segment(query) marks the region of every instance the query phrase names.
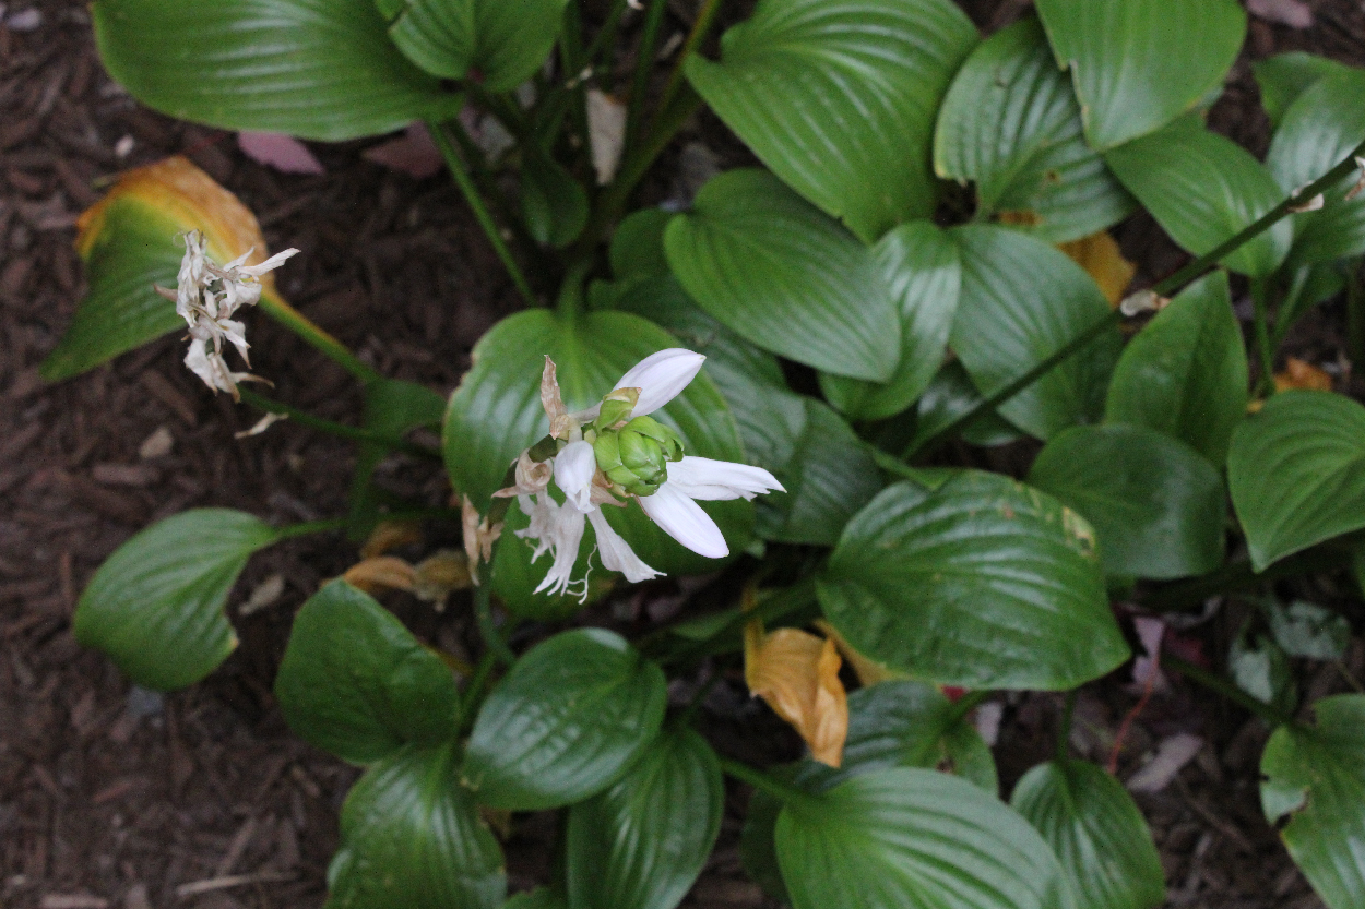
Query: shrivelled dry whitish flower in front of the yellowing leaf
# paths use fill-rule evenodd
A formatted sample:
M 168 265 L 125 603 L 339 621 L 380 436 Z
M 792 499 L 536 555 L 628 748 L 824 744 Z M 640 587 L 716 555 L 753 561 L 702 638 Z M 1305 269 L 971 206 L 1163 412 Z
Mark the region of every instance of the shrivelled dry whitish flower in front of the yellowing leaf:
M 184 235 L 184 258 L 176 276 L 176 289 L 157 288 L 164 298 L 175 300 L 176 314 L 190 328 L 190 351 L 184 364 L 205 385 L 229 393 L 233 400 L 238 400 L 238 382 L 257 377 L 233 373 L 222 359 L 222 343 L 227 341 L 251 366 L 246 326 L 233 321 L 232 315 L 242 306 L 255 306 L 261 299 L 261 276 L 284 265 L 298 250 L 277 252 L 259 265 L 243 265 L 251 252 L 247 250 L 244 255 L 218 266 L 205 254 L 203 233 L 190 231 Z

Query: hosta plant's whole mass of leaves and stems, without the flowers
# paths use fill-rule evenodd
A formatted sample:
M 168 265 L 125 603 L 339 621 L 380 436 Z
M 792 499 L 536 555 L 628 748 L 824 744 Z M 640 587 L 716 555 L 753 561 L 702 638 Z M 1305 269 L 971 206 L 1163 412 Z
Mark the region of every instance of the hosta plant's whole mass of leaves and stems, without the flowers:
M 556 308 L 532 306 L 479 341 L 448 403 L 374 374 L 268 291 L 266 314 L 366 389 L 360 427 L 314 420 L 362 445 L 341 524 L 363 534 L 401 506 L 369 472 L 385 450 L 411 450 L 403 434 L 423 424 L 441 427 L 452 486 L 487 513 L 509 461 L 545 433 L 546 355 L 579 409 L 681 343 L 707 370 L 657 416 L 689 453 L 763 465 L 786 489 L 758 505 L 707 504 L 732 562 L 762 554 L 766 577 L 790 584 L 759 614 L 770 625 L 820 616 L 867 665 L 906 677 L 849 697 L 838 770 L 718 758 L 689 712 L 666 715 L 665 669 L 733 654 L 747 614 L 689 616 L 639 646 L 561 631 L 512 654 L 493 596 L 511 622 L 579 609 L 534 592 L 543 569 L 515 536 L 527 516 L 513 508 L 475 596 L 487 655 L 461 667 L 463 687 L 345 581 L 295 621 L 276 685 L 285 717 L 367 767 L 343 812 L 329 905 L 667 909 L 714 843 L 722 767 L 756 786 L 747 867 L 799 909 L 1162 901 L 1151 837 L 1111 775 L 1059 755 L 1006 804 L 966 721 L 972 702 L 954 706 L 936 685 L 1074 689 L 1129 656 L 1112 595 L 1160 591 L 1168 603 L 1181 583 L 1207 595 L 1291 571 L 1306 550 L 1350 558 L 1365 528 L 1365 408 L 1328 392 L 1272 394 L 1269 375 L 1289 329 L 1365 254 L 1365 199 L 1353 198 L 1365 72 L 1306 55 L 1260 63 L 1275 123 L 1261 162 L 1201 116 L 1244 40 L 1235 0 L 1036 7 L 983 38 L 949 0 L 760 0 L 708 60 L 696 53 L 708 1 L 651 112 L 666 15 L 654 0 L 624 154 L 603 168 L 591 93 L 618 87 L 609 61 L 624 1 L 584 46 L 566 0 L 96 0 L 109 71 L 175 116 L 314 139 L 426 120 L 528 302 L 558 284 Z M 513 94 L 523 83 L 532 90 Z M 467 102 L 504 121 L 512 152 L 489 160 L 463 132 Z M 764 167 L 715 176 L 681 213 L 622 217 L 703 102 Z M 479 197 L 498 198 L 502 168 L 519 177 L 502 207 L 530 280 Z M 91 289 L 49 378 L 175 328 L 150 285 L 175 281 L 176 231 L 205 229 L 220 261 L 259 242 L 244 209 L 172 171 L 131 175 L 83 220 Z M 1179 293 L 1125 343 L 1122 315 L 1055 244 L 1138 209 L 1198 258 L 1153 288 Z M 1233 281 L 1256 310 L 1254 394 Z M 793 390 L 782 360 L 819 397 Z M 1024 437 L 1041 450 L 1022 479 L 930 457 L 949 438 Z M 717 569 L 639 509 L 609 510 L 650 565 Z M 227 509 L 172 517 L 100 569 L 76 633 L 141 684 L 190 684 L 235 643 L 222 607 L 250 554 L 332 527 L 276 530 Z M 1246 561 L 1228 561 L 1230 539 Z M 590 530 L 576 576 L 592 551 Z M 1304 625 L 1275 610 L 1272 626 Z M 1324 901 L 1357 906 L 1365 696 L 1319 702 L 1312 726 L 1290 718 L 1295 706 L 1257 707 L 1278 726 L 1265 813 L 1287 818 L 1282 837 Z M 551 808 L 565 809 L 553 887 L 504 902 L 485 818 Z

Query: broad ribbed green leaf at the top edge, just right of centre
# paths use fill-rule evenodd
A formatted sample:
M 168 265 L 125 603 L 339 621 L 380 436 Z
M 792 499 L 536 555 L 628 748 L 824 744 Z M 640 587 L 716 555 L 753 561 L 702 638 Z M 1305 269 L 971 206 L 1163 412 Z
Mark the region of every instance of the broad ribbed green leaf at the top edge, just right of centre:
M 939 100 L 976 44 L 947 0 L 762 0 L 685 72 L 782 180 L 871 243 L 934 213 Z

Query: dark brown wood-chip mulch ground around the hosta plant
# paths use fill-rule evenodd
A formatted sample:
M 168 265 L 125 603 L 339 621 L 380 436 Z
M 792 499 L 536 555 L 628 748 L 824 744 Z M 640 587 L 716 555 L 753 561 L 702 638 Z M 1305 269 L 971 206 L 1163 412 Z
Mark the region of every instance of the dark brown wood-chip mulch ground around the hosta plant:
M 981 25 L 1025 5 L 965 4 Z M 1253 20 L 1253 57 L 1312 49 L 1365 63 L 1365 12 L 1354 0 L 1310 3 L 1317 25 L 1290 30 Z M 11 3 L 10 12 L 29 8 Z M 213 397 L 165 338 L 81 378 L 45 386 L 37 364 L 68 323 L 82 292 L 71 248 L 76 214 L 120 169 L 188 154 L 259 216 L 272 248 L 303 254 L 280 273 L 283 293 L 382 373 L 446 393 L 468 351 L 515 292 L 457 194 L 441 177 L 416 182 L 364 162 L 366 143 L 314 146 L 321 177 L 285 176 L 246 160 L 231 135 L 152 113 L 100 67 L 81 3 L 33 4 L 30 31 L 0 26 L 0 906 L 197 909 L 319 906 L 336 846 L 336 813 L 356 771 L 293 738 L 270 696 L 293 610 L 355 550 L 336 538 L 300 539 L 253 560 L 232 598 L 242 647 L 206 682 L 164 699 L 130 689 L 70 632 L 75 599 L 98 564 L 153 520 L 201 505 L 228 505 L 272 521 L 343 513 L 348 445 L 288 423 L 235 439 L 255 415 Z M 22 22 L 22 20 L 20 20 Z M 674 19 L 674 25 L 677 25 Z M 1215 124 L 1263 150 L 1265 123 L 1246 60 Z M 702 138 L 726 165 L 733 145 L 703 121 Z M 115 149 L 128 142 L 120 157 Z M 669 167 L 667 158 L 665 168 Z M 1148 272 L 1178 263 L 1151 225 L 1119 231 Z M 1297 341 L 1313 362 L 1340 354 L 1331 307 Z M 358 396 L 348 378 L 291 336 L 255 321 L 255 371 L 281 400 L 348 420 Z M 141 457 L 156 433 L 169 453 Z M 440 468 L 393 461 L 384 482 L 440 504 Z M 238 605 L 273 575 L 284 594 L 250 617 Z M 1339 599 L 1332 579 L 1320 595 Z M 414 602 L 400 614 L 422 635 L 459 647 L 465 616 Z M 1226 641 L 1235 610 L 1203 631 Z M 1358 620 L 1358 611 L 1355 618 Z M 1360 676 L 1360 640 L 1349 661 Z M 1103 760 L 1134 696 L 1118 674 L 1087 687 L 1078 752 Z M 1331 667 L 1306 673 L 1314 695 L 1340 688 Z M 781 753 L 790 738 L 752 707 L 743 688 L 708 702 L 713 738 L 729 753 Z M 1047 758 L 1057 700 L 1026 696 L 1005 711 L 995 749 L 1006 785 Z M 773 729 L 771 748 L 752 729 Z M 743 730 L 751 730 L 741 736 Z M 1162 849 L 1171 906 L 1310 909 L 1319 906 L 1261 818 L 1257 721 L 1177 681 L 1130 729 L 1121 775 L 1174 733 L 1204 740 L 1163 792 L 1141 796 Z M 734 841 L 743 792 L 733 792 L 721 848 L 689 905 L 759 906 L 738 868 Z M 515 887 L 543 874 L 553 824 L 523 822 L 508 842 Z M 834 908 L 831 908 L 834 909 Z

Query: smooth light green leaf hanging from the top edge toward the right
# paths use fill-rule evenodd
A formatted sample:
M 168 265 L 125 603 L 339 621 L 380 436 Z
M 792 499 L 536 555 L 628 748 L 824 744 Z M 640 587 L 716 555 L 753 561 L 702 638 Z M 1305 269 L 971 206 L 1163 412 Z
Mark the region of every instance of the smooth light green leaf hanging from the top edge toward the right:
M 1100 152 L 1193 108 L 1223 82 L 1246 34 L 1237 0 L 1037 0 L 1037 11 Z

